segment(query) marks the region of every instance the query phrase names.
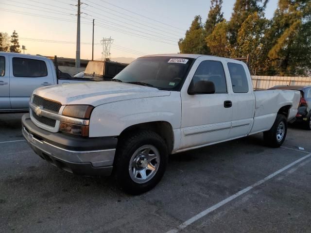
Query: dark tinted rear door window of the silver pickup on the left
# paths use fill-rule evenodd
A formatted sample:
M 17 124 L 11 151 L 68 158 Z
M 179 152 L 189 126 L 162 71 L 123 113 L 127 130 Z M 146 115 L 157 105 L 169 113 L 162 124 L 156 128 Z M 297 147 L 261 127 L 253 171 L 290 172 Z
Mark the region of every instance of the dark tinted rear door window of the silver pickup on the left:
M 14 57 L 13 74 L 15 77 L 45 77 L 48 71 L 44 61 Z

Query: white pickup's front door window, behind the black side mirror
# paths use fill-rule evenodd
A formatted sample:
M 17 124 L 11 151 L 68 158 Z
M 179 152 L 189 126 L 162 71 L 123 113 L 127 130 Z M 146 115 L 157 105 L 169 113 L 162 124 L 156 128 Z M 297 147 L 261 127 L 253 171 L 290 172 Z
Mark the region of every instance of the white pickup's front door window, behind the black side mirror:
M 215 85 L 215 93 L 226 93 L 225 71 L 223 64 L 217 61 L 203 61 L 195 71 L 192 82 L 210 81 Z

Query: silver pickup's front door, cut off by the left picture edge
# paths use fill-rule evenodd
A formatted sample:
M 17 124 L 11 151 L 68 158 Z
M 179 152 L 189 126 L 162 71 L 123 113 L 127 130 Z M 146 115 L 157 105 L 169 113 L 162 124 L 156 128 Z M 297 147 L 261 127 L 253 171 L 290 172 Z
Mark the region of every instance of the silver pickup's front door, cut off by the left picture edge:
M 0 111 L 10 109 L 9 61 L 7 55 L 0 55 Z

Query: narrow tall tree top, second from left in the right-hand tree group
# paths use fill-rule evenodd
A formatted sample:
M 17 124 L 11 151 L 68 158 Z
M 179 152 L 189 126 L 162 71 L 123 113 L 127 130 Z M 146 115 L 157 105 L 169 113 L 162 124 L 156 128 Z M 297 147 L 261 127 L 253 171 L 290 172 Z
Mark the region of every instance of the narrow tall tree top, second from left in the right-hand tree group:
M 210 9 L 205 23 L 206 36 L 210 35 L 216 24 L 224 20 L 224 13 L 222 12 L 223 0 L 210 0 Z

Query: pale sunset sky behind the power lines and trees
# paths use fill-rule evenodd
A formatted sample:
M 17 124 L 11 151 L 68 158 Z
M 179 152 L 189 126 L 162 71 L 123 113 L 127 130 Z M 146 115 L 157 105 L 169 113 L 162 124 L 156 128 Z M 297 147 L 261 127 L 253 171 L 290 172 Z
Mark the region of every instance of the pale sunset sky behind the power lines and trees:
M 16 30 L 25 53 L 75 57 L 77 0 L 0 0 L 0 32 Z M 103 37 L 114 39 L 112 57 L 177 53 L 194 16 L 205 22 L 209 0 L 81 0 L 81 58 L 92 56 L 92 19 L 95 18 L 94 59 L 101 58 Z M 234 0 L 224 0 L 230 19 Z M 270 0 L 266 17 L 273 17 L 277 0 Z M 52 43 L 54 42 L 54 43 Z

